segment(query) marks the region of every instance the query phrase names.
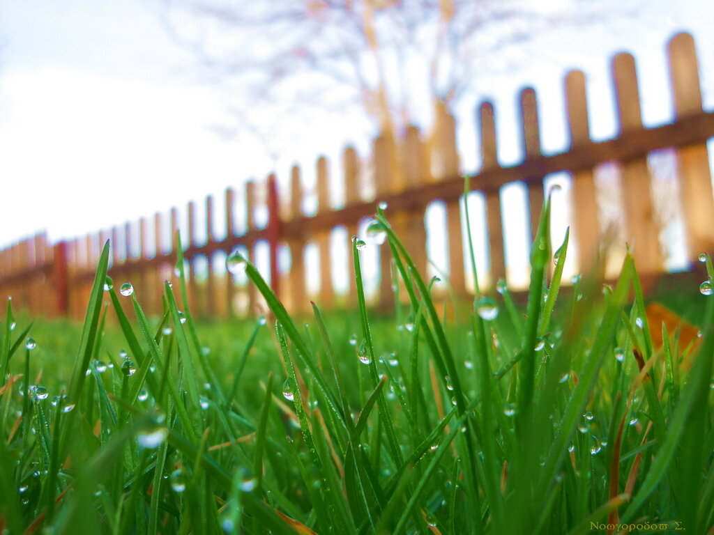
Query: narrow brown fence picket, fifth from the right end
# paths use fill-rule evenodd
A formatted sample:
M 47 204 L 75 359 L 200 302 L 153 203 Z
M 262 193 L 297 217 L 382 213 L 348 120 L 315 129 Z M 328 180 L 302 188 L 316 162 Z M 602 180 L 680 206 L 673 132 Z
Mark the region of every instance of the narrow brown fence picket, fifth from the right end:
M 496 154 L 496 121 L 493 105 L 484 102 L 479 108 L 481 119 L 481 156 L 483 170 L 498 168 Z M 488 227 L 488 258 L 491 282 L 506 279 L 506 255 L 503 252 L 503 220 L 501 218 L 501 192 L 486 190 L 486 226 Z

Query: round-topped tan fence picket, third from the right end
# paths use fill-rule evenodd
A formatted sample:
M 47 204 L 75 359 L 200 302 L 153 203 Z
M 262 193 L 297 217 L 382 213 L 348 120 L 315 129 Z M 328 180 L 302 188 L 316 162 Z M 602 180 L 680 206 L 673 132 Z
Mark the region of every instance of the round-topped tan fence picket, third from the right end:
M 585 74 L 570 71 L 565 77 L 565 105 L 568 108 L 570 147 L 590 143 Z M 585 271 L 595 263 L 600 247 L 598 192 L 592 169 L 573 173 L 573 230 L 578 245 L 578 269 Z

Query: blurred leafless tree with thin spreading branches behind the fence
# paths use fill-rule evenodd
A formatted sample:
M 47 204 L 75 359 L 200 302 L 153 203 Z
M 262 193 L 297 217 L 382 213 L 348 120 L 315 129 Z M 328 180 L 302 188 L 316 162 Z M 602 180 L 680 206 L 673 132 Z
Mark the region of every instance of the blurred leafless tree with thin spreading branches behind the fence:
M 286 113 L 357 107 L 398 133 L 434 102 L 477 91 L 483 73 L 513 68 L 501 52 L 556 25 L 634 14 L 637 0 L 546 9 L 553 1 L 166 0 L 166 22 L 238 96 L 243 128 L 246 109 L 268 103 Z M 252 128 L 265 136 L 265 124 Z

